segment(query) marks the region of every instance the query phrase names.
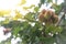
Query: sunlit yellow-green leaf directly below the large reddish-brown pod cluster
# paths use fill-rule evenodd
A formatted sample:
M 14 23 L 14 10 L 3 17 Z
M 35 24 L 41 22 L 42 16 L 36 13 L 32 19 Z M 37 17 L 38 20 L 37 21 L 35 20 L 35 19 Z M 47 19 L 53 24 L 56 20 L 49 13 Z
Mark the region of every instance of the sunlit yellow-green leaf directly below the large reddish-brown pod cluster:
M 62 28 L 61 26 L 55 26 L 55 25 L 47 25 L 46 29 L 45 29 L 45 32 L 48 34 L 48 33 L 53 33 L 53 34 L 56 34 L 57 33 L 61 33 L 62 32 Z

